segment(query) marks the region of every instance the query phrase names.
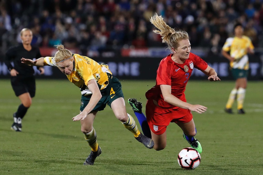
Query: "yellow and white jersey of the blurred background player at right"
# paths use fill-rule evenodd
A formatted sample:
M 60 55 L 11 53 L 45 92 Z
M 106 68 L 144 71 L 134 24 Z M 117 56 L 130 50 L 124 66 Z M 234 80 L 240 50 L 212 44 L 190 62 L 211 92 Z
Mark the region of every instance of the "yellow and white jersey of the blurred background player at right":
M 229 52 L 230 56 L 235 58 L 230 62 L 231 68 L 249 69 L 249 62 L 247 56 L 247 48 L 254 49 L 254 46 L 249 37 L 242 36 L 227 38 L 223 46 L 223 51 Z

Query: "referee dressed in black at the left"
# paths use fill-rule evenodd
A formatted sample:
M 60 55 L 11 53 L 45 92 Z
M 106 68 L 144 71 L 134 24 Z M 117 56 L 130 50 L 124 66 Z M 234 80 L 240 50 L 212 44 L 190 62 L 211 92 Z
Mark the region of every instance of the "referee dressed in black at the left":
M 13 114 L 14 122 L 11 129 L 21 131 L 22 119 L 31 106 L 32 98 L 35 96 L 36 83 L 33 66 L 21 63 L 21 58 L 40 58 L 38 47 L 31 45 L 33 39 L 32 31 L 24 28 L 20 32 L 22 44 L 9 48 L 5 53 L 5 64 L 10 71 L 12 88 L 21 101 L 17 111 Z M 13 62 L 13 65 L 11 64 Z M 40 74 L 44 74 L 43 67 L 38 67 Z

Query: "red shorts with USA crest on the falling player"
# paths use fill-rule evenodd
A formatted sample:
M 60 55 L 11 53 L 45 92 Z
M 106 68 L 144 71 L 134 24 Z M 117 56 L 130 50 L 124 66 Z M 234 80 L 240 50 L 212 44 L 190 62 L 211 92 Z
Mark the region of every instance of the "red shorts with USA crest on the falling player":
M 153 100 L 147 101 L 145 114 L 150 129 L 156 135 L 163 134 L 170 122 L 188 123 L 193 119 L 193 115 L 188 109 L 158 107 L 153 104 Z

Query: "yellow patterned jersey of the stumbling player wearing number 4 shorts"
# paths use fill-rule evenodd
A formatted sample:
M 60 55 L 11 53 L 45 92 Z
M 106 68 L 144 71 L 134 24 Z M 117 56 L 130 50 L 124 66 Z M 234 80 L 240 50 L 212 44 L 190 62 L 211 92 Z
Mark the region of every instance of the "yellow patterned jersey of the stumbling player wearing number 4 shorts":
M 92 94 L 87 87 L 88 81 L 92 79 L 96 80 L 100 90 L 107 87 L 109 78 L 112 77 L 108 76 L 108 74 L 112 74 L 108 65 L 99 64 L 91 58 L 79 54 L 73 54 L 73 58 L 74 68 L 72 73 L 67 75 L 67 78 L 80 88 L 82 95 Z M 52 61 L 52 57 L 45 57 L 44 64 L 57 67 Z

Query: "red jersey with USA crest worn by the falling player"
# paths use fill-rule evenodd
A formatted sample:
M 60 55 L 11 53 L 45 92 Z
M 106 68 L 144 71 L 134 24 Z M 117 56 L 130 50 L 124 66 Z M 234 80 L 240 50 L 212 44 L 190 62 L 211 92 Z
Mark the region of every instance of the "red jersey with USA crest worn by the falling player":
M 164 101 L 160 85 L 170 85 L 171 94 L 182 101 L 186 101 L 184 92 L 193 68 L 204 71 L 208 66 L 207 62 L 192 53 L 189 54 L 189 58 L 183 64 L 175 63 L 171 56 L 172 54 L 169 54 L 160 61 L 157 69 L 156 85 L 146 92 L 148 100 L 156 100 L 158 105 L 164 108 L 170 108 L 173 105 Z

